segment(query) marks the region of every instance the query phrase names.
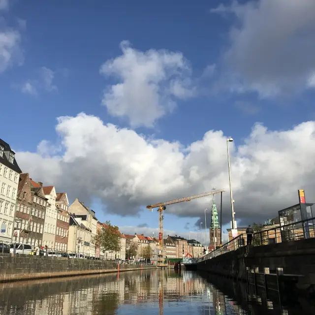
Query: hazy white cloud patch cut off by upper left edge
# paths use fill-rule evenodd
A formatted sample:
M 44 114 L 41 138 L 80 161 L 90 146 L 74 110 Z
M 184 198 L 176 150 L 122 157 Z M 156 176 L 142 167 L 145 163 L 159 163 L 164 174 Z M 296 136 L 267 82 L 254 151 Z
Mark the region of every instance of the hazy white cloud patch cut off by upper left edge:
M 21 34 L 13 29 L 0 29 L 0 73 L 9 66 L 23 63 Z

